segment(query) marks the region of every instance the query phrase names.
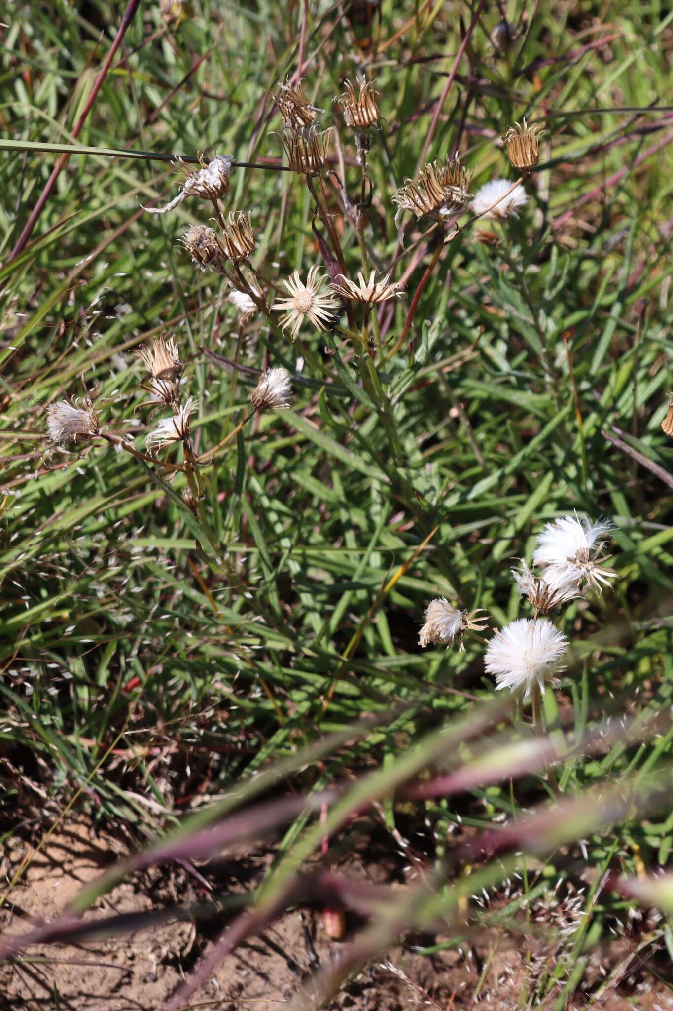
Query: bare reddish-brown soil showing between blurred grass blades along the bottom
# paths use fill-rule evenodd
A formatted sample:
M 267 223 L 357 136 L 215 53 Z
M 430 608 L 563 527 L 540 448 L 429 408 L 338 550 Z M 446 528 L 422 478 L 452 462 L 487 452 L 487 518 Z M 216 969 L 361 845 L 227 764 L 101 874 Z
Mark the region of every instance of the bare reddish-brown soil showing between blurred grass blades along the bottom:
M 1 868 L 5 882 L 12 880 L 26 855 L 32 857 L 30 863 L 0 914 L 3 933 L 23 933 L 31 922 L 57 917 L 83 885 L 97 878 L 119 853 L 118 846 L 109 838 L 93 835 L 82 819 L 60 829 L 39 852 L 15 839 Z M 234 858 L 218 868 L 219 884 L 231 891 L 249 888 L 267 859 L 263 851 Z M 351 855 L 350 860 L 352 877 L 402 884 L 399 865 L 386 866 L 384 860 L 366 865 L 357 855 Z M 140 913 L 175 903 L 203 902 L 204 898 L 193 876 L 182 868 L 162 869 L 119 885 L 88 915 Z M 350 937 L 356 926 L 348 924 Z M 0 967 L 0 1009 L 160 1011 L 222 927 L 221 921 L 198 926 L 193 922 L 171 922 L 101 940 L 35 945 L 19 960 Z M 350 937 L 347 928 L 345 939 Z M 483 944 L 432 956 L 415 951 L 432 940 L 406 938 L 380 963 L 368 967 L 351 981 L 330 1007 L 339 1011 L 408 1011 L 420 1007 L 509 1011 L 521 1006 L 528 969 L 515 939 L 484 937 Z M 326 936 L 319 912 L 289 912 L 261 936 L 226 957 L 191 1006 L 214 1011 L 276 1011 L 292 1003 L 302 985 L 316 970 L 329 964 L 340 946 L 341 942 Z M 623 945 L 619 956 L 610 953 L 610 962 L 619 962 L 625 953 L 628 956 Z M 628 993 L 620 993 L 627 980 L 625 972 L 620 986 L 600 994 L 598 1007 L 603 1011 L 673 1009 L 671 991 L 664 984 L 639 974 L 637 960 L 629 969 L 633 969 L 634 976 Z M 593 975 L 596 984 L 591 983 L 590 975 L 587 984 L 595 989 L 599 985 L 598 971 Z M 574 1008 L 588 1006 L 588 999 L 576 999 L 572 1004 Z

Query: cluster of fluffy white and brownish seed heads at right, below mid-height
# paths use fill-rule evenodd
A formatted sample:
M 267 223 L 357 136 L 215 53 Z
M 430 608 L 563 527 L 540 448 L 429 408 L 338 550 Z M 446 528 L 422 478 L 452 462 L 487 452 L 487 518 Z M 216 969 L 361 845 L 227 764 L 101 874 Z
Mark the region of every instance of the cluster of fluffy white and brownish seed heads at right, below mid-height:
M 522 700 L 533 701 L 536 725 L 541 722 L 540 696 L 546 684 L 557 685 L 564 669 L 568 640 L 549 617 L 590 590 L 602 591 L 615 573 L 605 568 L 605 542 L 612 530 L 608 520 L 564 516 L 547 524 L 533 554 L 537 573 L 522 560 L 512 575 L 521 595 L 533 608 L 533 618 L 519 618 L 495 632 L 486 648 L 484 666 L 495 677 L 495 687 L 510 688 Z M 419 641 L 422 646 L 456 643 L 464 649 L 465 633 L 485 628 L 478 612 L 460 611 L 444 598 L 428 605 Z M 546 617 L 543 617 L 546 616 Z

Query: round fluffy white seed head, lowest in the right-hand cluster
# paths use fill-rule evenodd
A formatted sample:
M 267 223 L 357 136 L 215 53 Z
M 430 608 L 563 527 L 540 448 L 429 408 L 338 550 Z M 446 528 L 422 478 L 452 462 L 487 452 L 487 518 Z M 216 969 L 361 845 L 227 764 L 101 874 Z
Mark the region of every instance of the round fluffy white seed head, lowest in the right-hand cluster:
M 545 618 L 520 618 L 496 632 L 488 643 L 484 666 L 495 675 L 497 688 L 524 690 L 531 694 L 535 683 L 545 691 L 562 668 L 568 640 Z

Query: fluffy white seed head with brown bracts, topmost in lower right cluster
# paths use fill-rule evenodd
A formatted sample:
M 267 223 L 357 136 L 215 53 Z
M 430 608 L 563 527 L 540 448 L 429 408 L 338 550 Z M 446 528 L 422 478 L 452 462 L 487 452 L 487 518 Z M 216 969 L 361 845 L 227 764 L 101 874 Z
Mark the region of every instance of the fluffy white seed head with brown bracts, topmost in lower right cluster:
M 598 564 L 611 530 L 609 520 L 591 523 L 588 517 L 580 519 L 576 513 L 559 517 L 548 523 L 538 537 L 533 562 L 545 566 L 547 582 L 559 585 L 574 580 L 578 585 L 586 583 L 601 592 L 601 583 L 608 586 L 608 579 L 616 575 Z

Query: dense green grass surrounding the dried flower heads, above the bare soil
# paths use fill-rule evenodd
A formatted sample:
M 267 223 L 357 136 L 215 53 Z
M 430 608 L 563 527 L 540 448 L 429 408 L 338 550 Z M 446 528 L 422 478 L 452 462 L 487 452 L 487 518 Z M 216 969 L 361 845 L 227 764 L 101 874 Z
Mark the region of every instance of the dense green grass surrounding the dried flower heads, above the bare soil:
M 503 44 L 495 4 L 202 0 L 169 5 L 169 21 L 136 6 L 126 22 L 122 3 L 17 3 L 2 29 L 5 837 L 86 809 L 138 838 L 178 833 L 190 857 L 209 825 L 264 824 L 234 808 L 320 795 L 273 808 L 286 834 L 252 930 L 299 901 L 297 875 L 362 812 L 396 849 L 430 824 L 427 890 L 371 899 L 325 994 L 411 926 L 444 922 L 455 944 L 479 924 L 526 933 L 530 904 L 552 908 L 557 878 L 565 895 L 588 864 L 554 967 L 522 997 L 563 1007 L 636 894 L 614 875 L 665 867 L 673 846 L 673 14 L 589 2 L 527 20 L 510 4 Z M 332 128 L 308 179 L 284 171 L 270 94 L 297 74 Z M 351 129 L 334 98 L 358 76 L 375 79 L 379 115 Z M 545 132 L 521 173 L 498 139 L 525 118 Z M 73 145 L 86 150 L 48 183 Z M 142 209 L 179 194 L 171 157 L 196 172 L 216 154 L 246 163 L 219 199 Z M 396 218 L 396 190 L 456 155 L 472 195 L 523 178 L 519 216 L 468 203 Z M 200 269 L 186 228 L 222 242 L 233 212 L 251 215 L 253 251 Z M 293 342 L 273 301 L 313 267 L 324 295 L 374 269 L 404 288 L 374 306 L 332 294 Z M 253 301 L 242 321 L 232 286 Z M 148 404 L 133 352 L 161 334 L 182 385 Z M 294 402 L 255 409 L 274 368 Z M 190 395 L 189 434 L 148 452 Z M 49 441 L 49 407 L 84 397 L 100 431 Z M 528 704 L 493 702 L 483 653 L 531 616 L 516 560 L 573 511 L 613 523 L 614 576 L 551 616 L 570 648 L 536 736 Z M 422 650 L 438 596 L 483 609 L 490 631 Z M 226 799 L 185 823 L 204 793 Z M 327 901 L 324 879 L 311 888 Z M 481 888 L 497 909 L 470 900 Z M 660 904 L 653 952 L 671 946 Z

